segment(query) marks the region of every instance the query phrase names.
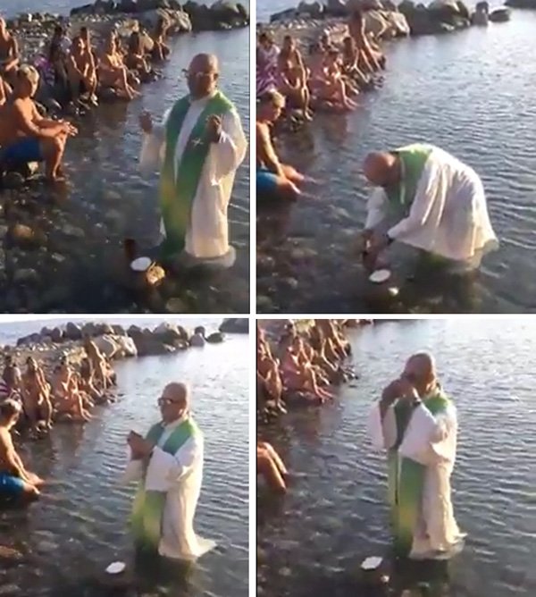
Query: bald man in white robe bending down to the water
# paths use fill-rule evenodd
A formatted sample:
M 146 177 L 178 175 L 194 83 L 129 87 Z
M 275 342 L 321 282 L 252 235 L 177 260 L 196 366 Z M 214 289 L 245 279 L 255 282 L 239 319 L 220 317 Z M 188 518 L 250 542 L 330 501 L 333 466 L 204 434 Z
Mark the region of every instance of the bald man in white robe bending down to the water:
M 362 234 L 372 267 L 395 240 L 462 272 L 479 267 L 482 256 L 498 248 L 481 179 L 439 147 L 414 144 L 370 154 L 364 175 L 377 187 Z

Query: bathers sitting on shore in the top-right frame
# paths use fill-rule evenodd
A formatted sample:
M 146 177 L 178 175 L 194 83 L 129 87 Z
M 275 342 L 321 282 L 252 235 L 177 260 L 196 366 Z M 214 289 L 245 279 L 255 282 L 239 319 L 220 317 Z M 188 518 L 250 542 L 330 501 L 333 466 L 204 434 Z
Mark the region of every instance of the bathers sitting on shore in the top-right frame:
M 338 46 L 324 31 L 304 59 L 296 40 L 287 35 L 281 49 L 270 33 L 259 36 L 256 50 L 256 187 L 260 195 L 297 198 L 305 177 L 282 164 L 272 144 L 271 129 L 283 113 L 311 121 L 313 110 L 354 110 L 356 97 L 373 87 L 385 68 L 380 46 L 364 29 L 364 13 L 348 19 L 348 36 Z

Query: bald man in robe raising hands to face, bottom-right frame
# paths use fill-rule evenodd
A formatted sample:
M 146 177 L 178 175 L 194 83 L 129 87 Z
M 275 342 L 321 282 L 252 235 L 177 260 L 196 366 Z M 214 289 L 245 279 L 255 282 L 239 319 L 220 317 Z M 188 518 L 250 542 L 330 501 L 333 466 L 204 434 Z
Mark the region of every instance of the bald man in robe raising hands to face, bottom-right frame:
M 461 551 L 465 535 L 456 524 L 450 491 L 456 408 L 441 389 L 430 355 L 408 359 L 374 402 L 367 428 L 374 448 L 387 450 L 397 555 L 448 559 Z

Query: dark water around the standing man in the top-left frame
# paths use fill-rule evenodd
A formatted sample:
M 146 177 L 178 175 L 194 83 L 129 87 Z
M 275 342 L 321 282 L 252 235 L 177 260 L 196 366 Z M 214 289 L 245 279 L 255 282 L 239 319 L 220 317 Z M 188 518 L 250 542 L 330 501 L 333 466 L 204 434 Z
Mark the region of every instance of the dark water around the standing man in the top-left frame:
M 4 5 L 4 4 L 3 4 Z M 159 240 L 157 176 L 138 170 L 143 110 L 158 121 L 187 92 L 180 77 L 194 55 L 220 59 L 221 88 L 237 105 L 249 136 L 248 29 L 205 32 L 173 38 L 172 58 L 164 77 L 143 88 L 143 96 L 126 103 L 101 105 L 77 121 L 80 134 L 65 155 L 69 184 L 48 189 L 36 183 L 24 192 L 0 194 L 0 206 L 12 204 L 13 223 L 28 225 L 42 239 L 31 249 L 5 244 L 0 265 L 0 310 L 29 313 L 186 312 L 245 313 L 249 307 L 249 158 L 237 172 L 229 207 L 230 241 L 237 263 L 217 274 L 185 274 L 163 285 L 163 298 L 140 298 L 123 289 L 122 243 L 134 238 L 140 248 Z M 0 208 L 1 211 L 1 208 Z M 0 218 L 0 226 L 4 224 Z M 3 227 L 3 226 L 2 226 Z M 4 238 L 5 231 L 0 231 Z M 4 257 L 5 254 L 5 257 Z M 27 279 L 22 271 L 32 271 Z M 175 307 L 166 307 L 178 298 Z

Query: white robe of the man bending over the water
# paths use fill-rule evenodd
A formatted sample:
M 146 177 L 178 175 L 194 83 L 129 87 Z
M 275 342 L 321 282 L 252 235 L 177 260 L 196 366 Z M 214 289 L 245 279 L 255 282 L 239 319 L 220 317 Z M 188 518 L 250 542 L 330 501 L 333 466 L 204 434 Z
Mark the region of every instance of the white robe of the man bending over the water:
M 388 217 L 389 199 L 374 189 L 367 204 L 365 228 Z M 393 240 L 478 267 L 482 256 L 498 248 L 482 181 L 473 168 L 433 147 L 424 165 L 407 217 L 388 231 Z

